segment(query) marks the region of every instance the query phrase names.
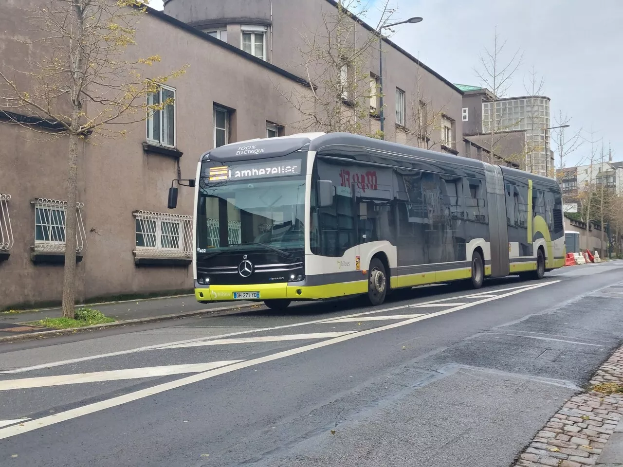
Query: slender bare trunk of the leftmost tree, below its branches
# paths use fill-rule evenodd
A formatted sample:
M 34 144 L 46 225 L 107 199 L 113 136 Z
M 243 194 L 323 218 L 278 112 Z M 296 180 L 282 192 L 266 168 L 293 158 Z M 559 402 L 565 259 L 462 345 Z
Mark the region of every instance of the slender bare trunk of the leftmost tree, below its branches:
M 69 134 L 69 174 L 67 176 L 67 212 L 65 213 L 65 270 L 63 274 L 63 318 L 74 318 L 76 275 L 76 185 L 78 179 L 78 142 Z

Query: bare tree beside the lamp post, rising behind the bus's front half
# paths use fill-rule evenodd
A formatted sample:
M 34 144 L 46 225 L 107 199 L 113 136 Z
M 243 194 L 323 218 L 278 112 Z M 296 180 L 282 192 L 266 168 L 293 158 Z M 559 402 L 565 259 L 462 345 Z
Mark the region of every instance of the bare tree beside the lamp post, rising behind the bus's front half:
M 376 31 L 389 24 L 394 9 L 389 0 L 379 7 Z M 381 138 L 371 131 L 370 118 L 379 111 L 380 97 L 376 77 L 370 74 L 373 52 L 379 36 L 361 31 L 359 17 L 366 16 L 368 6 L 360 0 L 338 0 L 335 10 L 323 12 L 315 31 L 303 31 L 303 46 L 298 50 L 305 62 L 301 65 L 312 87 L 288 90 L 283 97 L 301 114 L 292 125 L 302 131 L 346 131 Z

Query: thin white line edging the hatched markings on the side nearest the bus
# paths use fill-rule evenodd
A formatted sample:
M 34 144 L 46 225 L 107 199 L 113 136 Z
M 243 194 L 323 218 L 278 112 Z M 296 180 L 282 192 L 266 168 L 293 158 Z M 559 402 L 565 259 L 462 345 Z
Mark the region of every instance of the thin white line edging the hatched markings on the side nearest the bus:
M 543 285 L 554 284 L 554 283 L 557 283 L 557 282 L 560 282 L 560 281 L 556 280 L 556 281 L 546 282 Z M 500 293 L 500 292 L 506 292 L 506 291 L 509 291 L 509 290 L 518 290 L 518 289 L 524 289 L 524 288 L 527 289 L 527 288 L 530 288 L 530 286 L 519 285 L 519 286 L 515 286 L 515 287 L 506 287 L 506 288 L 503 288 L 503 289 L 492 290 L 491 293 Z M 471 295 L 457 296 L 457 297 L 454 297 L 454 298 L 452 298 L 450 300 L 456 300 L 456 299 L 459 299 L 459 298 L 462 298 L 462 299 L 464 299 L 464 298 L 472 298 L 473 296 L 478 296 L 478 295 L 482 295 L 482 292 L 473 293 Z M 384 313 L 386 311 L 394 311 L 394 310 L 397 310 L 397 309 L 412 308 L 412 306 L 429 304 L 429 303 L 440 303 L 440 302 L 444 302 L 444 301 L 447 301 L 447 300 L 449 300 L 449 299 L 448 298 L 441 298 L 439 300 L 430 300 L 430 301 L 426 301 L 426 302 L 422 302 L 422 303 L 394 306 L 392 308 L 376 309 L 376 310 L 373 310 L 373 311 L 364 311 L 362 313 L 347 314 L 345 316 L 342 316 L 342 318 L 351 318 L 351 317 L 354 317 L 354 316 L 365 316 L 367 314 L 374 314 L 374 313 Z M 119 355 L 133 354 L 135 352 L 145 352 L 145 351 L 151 351 L 151 350 L 168 349 L 170 346 L 177 346 L 179 344 L 185 344 L 186 342 L 204 342 L 204 341 L 207 341 L 209 339 L 221 339 L 222 337 L 240 336 L 242 334 L 261 333 L 261 332 L 264 332 L 264 331 L 275 331 L 275 329 L 295 328 L 297 326 L 306 326 L 307 324 L 323 323 L 323 321 L 326 321 L 326 318 L 325 319 L 316 319 L 315 321 L 304 321 L 303 323 L 284 324 L 282 326 L 273 326 L 271 328 L 260 328 L 260 329 L 251 329 L 249 331 L 238 331 L 238 332 L 235 332 L 235 333 L 221 334 L 219 336 L 211 336 L 211 337 L 208 337 L 208 338 L 206 338 L 206 337 L 196 337 L 194 339 L 186 339 L 184 341 L 169 342 L 168 344 L 156 344 L 156 345 L 153 345 L 153 346 L 137 347 L 136 349 L 129 349 L 129 350 L 126 350 L 126 351 L 108 352 L 107 354 L 99 354 L 99 355 L 92 355 L 92 356 L 88 356 L 88 357 L 79 357 L 79 358 L 76 358 L 76 359 L 61 360 L 61 361 L 57 361 L 57 362 L 50 362 L 50 363 L 44 363 L 44 364 L 40 364 L 40 365 L 34 365 L 34 366 L 31 366 L 31 367 L 17 368 L 17 369 L 14 369 L 14 370 L 5 370 L 5 371 L 0 371 L 0 374 L 23 373 L 23 372 L 27 372 L 27 371 L 31 371 L 31 370 L 40 370 L 40 369 L 44 369 L 44 368 L 52 368 L 52 367 L 57 367 L 57 366 L 62 366 L 62 365 L 69 365 L 69 364 L 72 364 L 72 363 L 86 362 L 86 361 L 100 359 L 100 358 L 105 358 L 105 357 L 116 357 L 116 356 L 119 356 Z

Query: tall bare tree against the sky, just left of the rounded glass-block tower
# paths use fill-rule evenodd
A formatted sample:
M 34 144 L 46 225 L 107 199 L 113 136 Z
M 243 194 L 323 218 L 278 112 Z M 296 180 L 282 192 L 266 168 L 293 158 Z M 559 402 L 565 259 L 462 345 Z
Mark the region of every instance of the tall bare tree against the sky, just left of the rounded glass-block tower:
M 484 87 L 492 93 L 488 101 L 490 110 L 487 118 L 483 115 L 483 133 L 488 136 L 490 158 L 493 158 L 493 154 L 503 153 L 502 139 L 508 134 L 508 130 L 513 130 L 520 123 L 520 120 L 513 120 L 512 116 L 498 110 L 497 102 L 500 98 L 505 97 L 506 92 L 511 87 L 513 75 L 520 67 L 522 59 L 523 54 L 520 50 L 506 55 L 506 40 L 500 39 L 496 26 L 493 47 L 490 49 L 485 47 L 479 57 L 480 67 L 474 68 Z M 513 154 L 513 156 L 516 155 Z M 505 156 L 505 159 L 507 158 Z M 525 160 L 525 154 L 523 154 L 523 159 Z M 494 161 L 488 162 L 493 163 Z

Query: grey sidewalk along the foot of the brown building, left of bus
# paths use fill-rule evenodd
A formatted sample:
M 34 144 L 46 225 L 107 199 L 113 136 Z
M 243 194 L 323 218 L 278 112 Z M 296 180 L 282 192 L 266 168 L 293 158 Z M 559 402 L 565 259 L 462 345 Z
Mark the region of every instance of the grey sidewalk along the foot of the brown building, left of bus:
M 145 300 L 117 301 L 111 303 L 89 304 L 85 307 L 98 309 L 106 316 L 117 319 L 117 323 L 103 326 L 119 325 L 123 323 L 140 323 L 158 321 L 160 319 L 182 318 L 198 314 L 219 313 L 228 309 L 252 306 L 248 301 L 199 303 L 194 295 L 178 295 L 164 298 L 150 298 Z M 79 308 L 79 307 L 78 307 Z M 37 321 L 44 318 L 61 316 L 60 308 L 46 308 L 27 310 L 19 313 L 0 313 L 0 340 L 2 337 L 50 331 L 50 329 L 34 326 L 24 326 L 22 323 Z M 86 329 L 86 328 L 78 328 Z M 69 329 L 73 332 L 75 329 Z M 68 330 L 65 329 L 65 332 Z

